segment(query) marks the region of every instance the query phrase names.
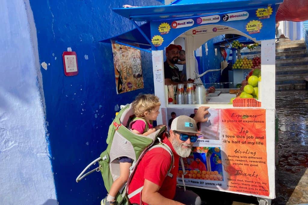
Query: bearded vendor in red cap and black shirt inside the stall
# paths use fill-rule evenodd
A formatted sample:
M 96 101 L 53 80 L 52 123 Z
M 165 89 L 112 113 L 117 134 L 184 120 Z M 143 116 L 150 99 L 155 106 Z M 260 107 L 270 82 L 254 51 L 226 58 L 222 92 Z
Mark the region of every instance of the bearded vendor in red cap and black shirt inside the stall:
M 165 85 L 177 85 L 179 83 L 192 83 L 193 81 L 181 81 L 179 68 L 174 65 L 179 61 L 182 46 L 170 44 L 166 48 L 166 61 L 164 62 Z

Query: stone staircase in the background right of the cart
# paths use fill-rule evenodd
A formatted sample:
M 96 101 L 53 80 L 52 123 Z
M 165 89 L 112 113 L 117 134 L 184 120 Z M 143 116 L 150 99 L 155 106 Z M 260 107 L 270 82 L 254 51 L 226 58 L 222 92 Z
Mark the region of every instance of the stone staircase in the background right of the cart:
M 305 89 L 308 53 L 304 40 L 276 43 L 276 90 Z

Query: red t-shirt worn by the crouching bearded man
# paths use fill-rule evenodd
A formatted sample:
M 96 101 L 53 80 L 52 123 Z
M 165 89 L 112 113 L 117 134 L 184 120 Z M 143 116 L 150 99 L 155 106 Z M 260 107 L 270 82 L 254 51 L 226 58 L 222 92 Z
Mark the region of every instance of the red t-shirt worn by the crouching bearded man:
M 180 156 L 176 154 L 167 137 L 165 137 L 162 141 L 167 144 L 173 152 L 174 167 L 170 171 L 173 177 L 171 178 L 166 176 L 171 166 L 171 155 L 164 148 L 154 148 L 145 153 L 138 164 L 136 172 L 128 187 L 128 194 L 142 187 L 144 185 L 144 179 L 147 179 L 160 186 L 160 190 L 158 192 L 161 195 L 168 199 L 174 198 L 176 190 L 176 175 L 179 170 Z M 139 204 L 140 193 L 133 196 L 130 199 L 130 202 Z M 147 203 L 144 202 L 142 202 L 142 204 L 147 205 Z

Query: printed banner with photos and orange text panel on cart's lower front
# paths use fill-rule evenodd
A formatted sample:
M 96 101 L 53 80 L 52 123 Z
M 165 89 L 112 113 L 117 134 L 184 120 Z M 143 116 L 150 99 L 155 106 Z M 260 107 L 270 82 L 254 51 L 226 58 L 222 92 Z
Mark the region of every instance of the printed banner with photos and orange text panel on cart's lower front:
M 167 108 L 191 116 L 194 108 Z M 180 164 L 178 184 L 269 197 L 265 109 L 209 109 L 209 120 L 198 126 L 200 137 Z M 174 116 L 174 115 L 173 115 Z M 272 162 L 274 163 L 274 162 Z M 271 190 L 273 191 L 273 190 Z

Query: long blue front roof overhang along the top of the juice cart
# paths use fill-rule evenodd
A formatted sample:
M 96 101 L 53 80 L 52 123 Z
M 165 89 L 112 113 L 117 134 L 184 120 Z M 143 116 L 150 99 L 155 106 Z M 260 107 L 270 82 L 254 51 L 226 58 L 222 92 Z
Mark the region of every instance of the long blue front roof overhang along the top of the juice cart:
M 176 0 L 170 5 L 114 8 L 113 11 L 134 21 L 156 21 L 200 14 L 243 10 L 255 6 L 280 4 L 283 0 Z

